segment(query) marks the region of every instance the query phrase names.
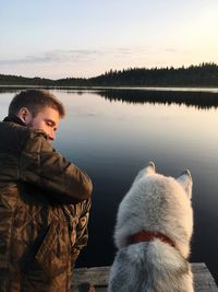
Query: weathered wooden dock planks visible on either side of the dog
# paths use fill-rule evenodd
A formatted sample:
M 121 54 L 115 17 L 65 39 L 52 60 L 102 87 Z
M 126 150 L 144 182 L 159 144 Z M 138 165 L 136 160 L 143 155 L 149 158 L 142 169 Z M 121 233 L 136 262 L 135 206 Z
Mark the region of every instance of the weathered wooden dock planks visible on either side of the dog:
M 72 292 L 84 291 L 76 287 L 85 282 L 89 282 L 95 285 L 96 292 L 106 292 L 108 285 L 109 270 L 110 267 L 75 269 Z M 218 292 L 218 288 L 215 283 L 215 280 L 205 264 L 193 262 L 192 271 L 194 275 L 195 292 Z

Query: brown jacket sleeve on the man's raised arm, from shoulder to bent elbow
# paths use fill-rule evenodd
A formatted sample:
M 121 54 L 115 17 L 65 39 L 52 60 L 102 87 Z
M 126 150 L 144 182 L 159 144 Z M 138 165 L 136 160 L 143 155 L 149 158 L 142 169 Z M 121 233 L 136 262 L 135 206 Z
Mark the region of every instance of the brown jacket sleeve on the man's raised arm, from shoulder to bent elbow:
M 20 157 L 20 179 L 47 191 L 62 203 L 89 198 L 92 180 L 76 165 L 52 149 L 46 133 L 31 131 Z

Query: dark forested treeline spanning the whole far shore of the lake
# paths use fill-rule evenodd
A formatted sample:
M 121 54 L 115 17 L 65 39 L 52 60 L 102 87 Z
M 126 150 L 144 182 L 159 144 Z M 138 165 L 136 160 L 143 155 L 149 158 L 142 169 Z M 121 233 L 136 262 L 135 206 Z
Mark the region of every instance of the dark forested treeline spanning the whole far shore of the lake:
M 88 79 L 59 80 L 0 74 L 0 85 L 41 86 L 218 86 L 218 66 L 203 62 L 190 67 L 129 68 L 110 70 Z

